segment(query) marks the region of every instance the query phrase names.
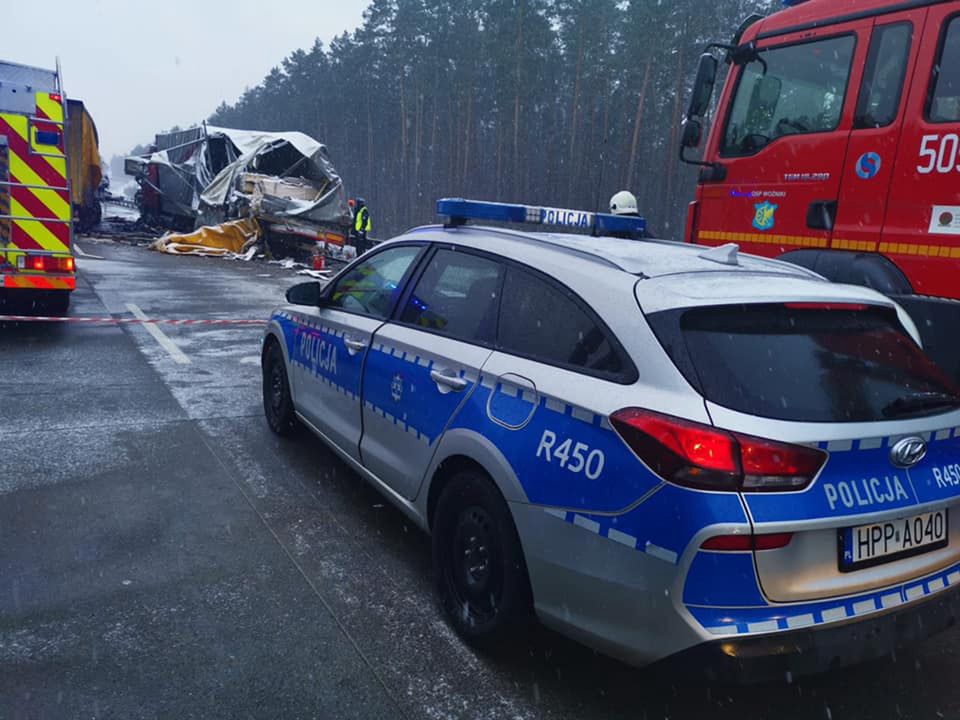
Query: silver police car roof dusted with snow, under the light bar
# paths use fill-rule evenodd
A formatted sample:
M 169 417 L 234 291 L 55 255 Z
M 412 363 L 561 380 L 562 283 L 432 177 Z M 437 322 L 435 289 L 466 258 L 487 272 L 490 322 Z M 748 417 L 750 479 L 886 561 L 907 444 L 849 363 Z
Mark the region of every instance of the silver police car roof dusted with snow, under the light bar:
M 739 254 L 737 265 L 726 265 L 704 255 L 710 248 L 670 240 L 628 240 L 567 233 L 523 232 L 497 227 L 427 226 L 411 231 L 434 242 L 456 242 L 490 250 L 536 266 L 544 253 L 573 257 L 646 278 L 697 272 L 765 273 L 798 278 L 822 278 L 809 270 L 777 260 Z

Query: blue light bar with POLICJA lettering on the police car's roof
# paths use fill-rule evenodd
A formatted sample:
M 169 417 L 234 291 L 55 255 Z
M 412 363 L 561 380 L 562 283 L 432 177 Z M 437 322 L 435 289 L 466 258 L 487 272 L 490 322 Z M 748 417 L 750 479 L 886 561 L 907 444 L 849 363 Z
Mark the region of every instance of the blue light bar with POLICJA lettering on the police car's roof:
M 463 198 L 443 198 L 437 201 L 437 215 L 448 218 L 448 225 L 459 227 L 469 220 L 518 223 L 524 225 L 550 225 L 587 230 L 593 235 L 630 235 L 643 237 L 647 221 L 642 217 L 606 215 L 585 210 L 537 207 L 534 205 L 511 205 Z

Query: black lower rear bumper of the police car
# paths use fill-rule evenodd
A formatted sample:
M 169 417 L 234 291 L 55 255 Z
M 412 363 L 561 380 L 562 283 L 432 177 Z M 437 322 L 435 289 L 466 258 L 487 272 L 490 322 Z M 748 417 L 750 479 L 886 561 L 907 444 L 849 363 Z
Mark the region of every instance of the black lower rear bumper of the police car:
M 658 669 L 703 668 L 715 680 L 761 682 L 812 675 L 887 657 L 960 621 L 960 589 L 884 614 L 818 628 L 716 640 L 674 655 Z

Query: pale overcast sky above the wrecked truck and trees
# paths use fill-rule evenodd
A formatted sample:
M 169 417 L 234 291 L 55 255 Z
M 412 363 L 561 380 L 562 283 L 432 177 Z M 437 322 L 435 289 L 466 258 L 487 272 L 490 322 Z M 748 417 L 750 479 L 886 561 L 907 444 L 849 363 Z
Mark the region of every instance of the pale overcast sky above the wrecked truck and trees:
M 83 100 L 104 160 L 199 122 L 298 47 L 362 21 L 368 0 L 0 0 L 0 57 L 53 67 Z M 322 138 L 321 138 L 322 140 Z

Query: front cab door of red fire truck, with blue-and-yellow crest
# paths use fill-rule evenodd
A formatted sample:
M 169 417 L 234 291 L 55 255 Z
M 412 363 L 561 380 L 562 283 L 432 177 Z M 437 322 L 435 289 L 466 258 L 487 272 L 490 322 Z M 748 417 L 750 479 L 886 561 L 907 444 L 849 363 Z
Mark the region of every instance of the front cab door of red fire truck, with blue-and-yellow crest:
M 761 38 L 721 104 L 708 157 L 726 180 L 701 186 L 698 242 L 766 256 L 827 247 L 871 27 Z

